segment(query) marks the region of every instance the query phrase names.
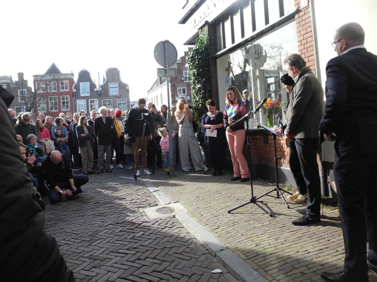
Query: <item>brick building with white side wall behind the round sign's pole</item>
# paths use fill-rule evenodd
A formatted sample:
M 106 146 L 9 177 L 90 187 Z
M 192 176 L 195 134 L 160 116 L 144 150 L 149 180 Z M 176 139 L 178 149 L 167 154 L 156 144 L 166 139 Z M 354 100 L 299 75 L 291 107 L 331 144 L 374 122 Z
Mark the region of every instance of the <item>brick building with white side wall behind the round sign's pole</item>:
M 186 67 L 189 52 L 190 49 L 184 52 L 184 56 L 178 58 L 176 64 L 171 67 L 177 69 L 177 76 L 169 77 L 170 106 L 175 106 L 180 97 L 184 97 L 187 103 L 192 105 L 190 75 Z M 166 77 L 158 77 L 147 92 L 148 101 L 155 104 L 158 109 L 162 104 L 168 105 L 166 86 Z

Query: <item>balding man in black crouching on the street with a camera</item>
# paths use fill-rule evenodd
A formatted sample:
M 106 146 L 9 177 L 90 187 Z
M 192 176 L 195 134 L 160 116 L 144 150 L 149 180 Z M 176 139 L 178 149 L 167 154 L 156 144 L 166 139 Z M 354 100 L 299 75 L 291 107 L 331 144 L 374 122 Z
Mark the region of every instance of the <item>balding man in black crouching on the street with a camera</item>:
M 84 174 L 73 175 L 66 156 L 59 151 L 48 154 L 42 162 L 44 179 L 50 186 L 49 199 L 52 204 L 60 201 L 62 195 L 74 200 L 81 193 L 81 186 L 89 181 Z

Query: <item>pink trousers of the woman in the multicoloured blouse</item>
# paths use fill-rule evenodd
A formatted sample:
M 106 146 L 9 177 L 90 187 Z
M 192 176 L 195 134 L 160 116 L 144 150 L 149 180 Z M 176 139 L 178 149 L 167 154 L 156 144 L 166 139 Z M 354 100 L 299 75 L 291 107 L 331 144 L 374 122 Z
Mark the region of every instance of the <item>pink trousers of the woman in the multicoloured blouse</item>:
M 226 135 L 233 163 L 233 176 L 249 178 L 250 171 L 244 154 L 242 154 L 242 148 L 244 147 L 245 142 L 245 130 L 240 129 L 233 131 L 232 133 L 227 131 Z

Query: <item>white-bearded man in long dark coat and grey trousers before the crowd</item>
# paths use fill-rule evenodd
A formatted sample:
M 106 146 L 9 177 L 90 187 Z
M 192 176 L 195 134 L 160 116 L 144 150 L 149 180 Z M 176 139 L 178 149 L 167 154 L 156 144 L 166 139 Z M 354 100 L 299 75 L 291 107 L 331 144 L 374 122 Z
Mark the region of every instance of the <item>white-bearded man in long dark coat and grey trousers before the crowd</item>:
M 112 172 L 110 169 L 111 163 L 111 145 L 113 144 L 113 136 L 111 134 L 111 127 L 113 124 L 112 118 L 107 117 L 106 107 L 101 107 L 99 110 L 100 116 L 94 120 L 94 134 L 98 142 L 98 162 L 97 173 Z M 103 163 L 103 157 L 106 153 L 106 163 Z

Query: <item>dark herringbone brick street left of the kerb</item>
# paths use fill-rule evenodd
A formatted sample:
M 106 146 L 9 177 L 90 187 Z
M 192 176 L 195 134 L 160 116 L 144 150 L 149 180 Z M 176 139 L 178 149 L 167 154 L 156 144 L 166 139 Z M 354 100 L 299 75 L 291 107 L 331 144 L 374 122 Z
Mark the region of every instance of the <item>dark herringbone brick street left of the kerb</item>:
M 43 197 L 45 230 L 76 280 L 237 281 L 174 217 L 150 220 L 141 212 L 158 204 L 132 173 L 90 175 L 74 201 L 51 205 Z M 156 177 L 167 181 L 148 176 Z M 222 273 L 211 273 L 217 268 Z

